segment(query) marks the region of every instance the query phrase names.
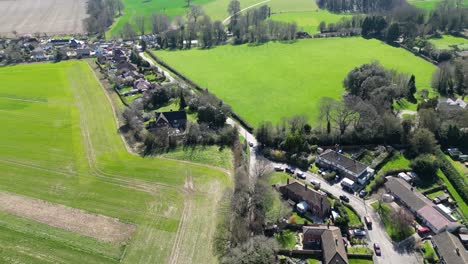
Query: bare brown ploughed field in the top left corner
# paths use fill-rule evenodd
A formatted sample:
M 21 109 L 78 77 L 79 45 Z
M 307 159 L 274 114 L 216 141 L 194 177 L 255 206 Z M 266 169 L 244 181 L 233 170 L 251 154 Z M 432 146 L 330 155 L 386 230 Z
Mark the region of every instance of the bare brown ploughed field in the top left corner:
M 86 0 L 0 1 L 0 34 L 83 33 Z

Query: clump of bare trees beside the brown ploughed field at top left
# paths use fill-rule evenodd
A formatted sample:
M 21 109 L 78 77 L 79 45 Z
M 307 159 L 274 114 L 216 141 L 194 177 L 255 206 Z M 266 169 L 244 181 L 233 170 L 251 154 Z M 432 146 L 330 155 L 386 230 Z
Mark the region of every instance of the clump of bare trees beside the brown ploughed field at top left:
M 123 8 L 122 0 L 89 0 L 89 16 L 85 19 L 86 30 L 103 35 L 114 22 L 114 17 L 122 15 Z

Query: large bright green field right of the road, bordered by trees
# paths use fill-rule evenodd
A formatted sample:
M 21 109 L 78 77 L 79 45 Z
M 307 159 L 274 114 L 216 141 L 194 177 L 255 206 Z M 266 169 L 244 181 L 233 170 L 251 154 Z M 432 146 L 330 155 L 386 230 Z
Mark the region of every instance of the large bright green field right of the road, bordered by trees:
M 418 88 L 430 86 L 435 69 L 403 49 L 358 37 L 154 53 L 225 100 L 254 126 L 292 115 L 306 115 L 314 123 L 320 98 L 340 99 L 343 79 L 364 63 L 377 60 L 412 73 Z

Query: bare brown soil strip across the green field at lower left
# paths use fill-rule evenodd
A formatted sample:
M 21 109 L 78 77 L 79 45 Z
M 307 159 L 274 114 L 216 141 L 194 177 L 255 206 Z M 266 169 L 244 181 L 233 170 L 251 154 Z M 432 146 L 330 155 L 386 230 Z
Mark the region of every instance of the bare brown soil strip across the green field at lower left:
M 0 192 L 0 210 L 107 242 L 125 241 L 135 230 L 116 218 L 6 192 Z

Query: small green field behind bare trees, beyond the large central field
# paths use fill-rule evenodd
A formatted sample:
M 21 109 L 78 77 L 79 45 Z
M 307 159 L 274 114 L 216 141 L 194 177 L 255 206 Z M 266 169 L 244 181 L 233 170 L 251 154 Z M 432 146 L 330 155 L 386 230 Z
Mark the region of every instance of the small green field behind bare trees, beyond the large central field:
M 320 32 L 318 29 L 320 22 L 325 21 L 328 25 L 336 23 L 345 17 L 351 17 L 351 15 L 334 14 L 326 10 L 317 9 L 309 12 L 278 13 L 272 15 L 271 19 L 283 22 L 296 22 L 300 31 L 316 34 Z

